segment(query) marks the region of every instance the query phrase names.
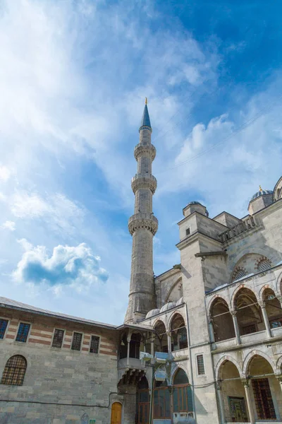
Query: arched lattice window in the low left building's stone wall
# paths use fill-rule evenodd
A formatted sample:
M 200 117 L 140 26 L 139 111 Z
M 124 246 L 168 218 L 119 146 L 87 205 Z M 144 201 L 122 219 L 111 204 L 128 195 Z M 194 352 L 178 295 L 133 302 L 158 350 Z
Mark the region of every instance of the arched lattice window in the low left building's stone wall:
M 1 378 L 1 384 L 22 386 L 25 378 L 27 362 L 22 355 L 11 356 L 6 362 Z

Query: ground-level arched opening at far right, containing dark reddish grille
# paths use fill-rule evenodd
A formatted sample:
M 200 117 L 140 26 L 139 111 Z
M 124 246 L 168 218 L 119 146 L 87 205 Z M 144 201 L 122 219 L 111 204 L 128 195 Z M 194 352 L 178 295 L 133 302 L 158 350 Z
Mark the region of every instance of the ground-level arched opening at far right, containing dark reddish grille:
M 270 363 L 255 355 L 247 367 L 250 376 L 257 420 L 276 420 L 282 414 L 282 396 Z M 279 407 L 281 411 L 279 411 Z

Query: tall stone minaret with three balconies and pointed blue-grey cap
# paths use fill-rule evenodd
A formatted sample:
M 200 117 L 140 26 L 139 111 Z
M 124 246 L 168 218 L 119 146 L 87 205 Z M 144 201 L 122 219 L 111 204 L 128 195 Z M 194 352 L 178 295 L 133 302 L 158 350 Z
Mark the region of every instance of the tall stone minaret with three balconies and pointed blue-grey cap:
M 156 149 L 151 144 L 152 128 L 145 100 L 145 109 L 139 129 L 139 143 L 135 146 L 137 174 L 131 181 L 135 194 L 134 215 L 128 220 L 128 229 L 133 236 L 131 259 L 130 293 L 125 323 L 133 322 L 134 313 L 142 317 L 154 309 L 153 236 L 158 229 L 158 220 L 152 211 L 152 196 L 157 189 L 157 179 L 152 175 L 152 161 Z

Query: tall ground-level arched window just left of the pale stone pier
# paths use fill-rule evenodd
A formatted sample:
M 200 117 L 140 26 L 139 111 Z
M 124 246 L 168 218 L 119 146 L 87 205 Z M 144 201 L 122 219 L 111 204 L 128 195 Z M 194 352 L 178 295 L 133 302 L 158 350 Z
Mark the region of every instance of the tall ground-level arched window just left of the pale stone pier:
M 173 413 L 192 413 L 192 390 L 185 371 L 179 369 L 173 379 Z

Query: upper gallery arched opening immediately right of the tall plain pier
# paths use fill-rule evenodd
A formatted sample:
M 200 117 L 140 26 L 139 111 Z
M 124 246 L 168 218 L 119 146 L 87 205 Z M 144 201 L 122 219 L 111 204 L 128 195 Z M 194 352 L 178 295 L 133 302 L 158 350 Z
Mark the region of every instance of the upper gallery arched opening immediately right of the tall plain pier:
M 225 300 L 216 298 L 211 307 L 214 340 L 222 341 L 235 337 L 233 318 Z

